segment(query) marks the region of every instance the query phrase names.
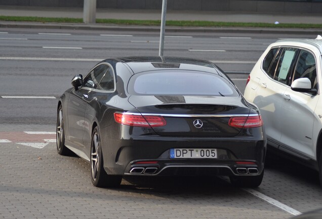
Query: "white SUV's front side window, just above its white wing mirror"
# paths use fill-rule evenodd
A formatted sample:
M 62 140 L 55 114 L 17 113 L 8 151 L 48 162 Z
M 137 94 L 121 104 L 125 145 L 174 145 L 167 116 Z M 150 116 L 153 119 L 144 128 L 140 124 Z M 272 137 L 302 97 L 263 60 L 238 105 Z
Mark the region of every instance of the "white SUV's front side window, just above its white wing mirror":
M 314 55 L 306 50 L 301 50 L 296 63 L 293 81 L 299 78 L 308 78 L 311 88 L 316 88 L 316 65 Z

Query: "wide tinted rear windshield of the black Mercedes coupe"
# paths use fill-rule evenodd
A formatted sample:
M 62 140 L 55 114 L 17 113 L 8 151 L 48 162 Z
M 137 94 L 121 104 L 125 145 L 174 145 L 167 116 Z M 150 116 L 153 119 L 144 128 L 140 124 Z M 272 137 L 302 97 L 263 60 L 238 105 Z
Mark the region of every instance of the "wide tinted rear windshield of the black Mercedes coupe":
M 198 71 L 149 71 L 134 75 L 128 91 L 140 95 L 237 96 L 221 76 Z

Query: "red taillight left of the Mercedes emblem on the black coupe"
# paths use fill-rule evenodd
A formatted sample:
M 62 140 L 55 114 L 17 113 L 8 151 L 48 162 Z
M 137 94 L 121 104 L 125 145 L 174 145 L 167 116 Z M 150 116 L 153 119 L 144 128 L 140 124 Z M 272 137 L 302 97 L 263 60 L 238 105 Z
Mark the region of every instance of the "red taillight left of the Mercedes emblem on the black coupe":
M 115 122 L 139 127 L 159 127 L 165 126 L 166 120 L 162 116 L 141 116 L 123 113 L 114 113 Z

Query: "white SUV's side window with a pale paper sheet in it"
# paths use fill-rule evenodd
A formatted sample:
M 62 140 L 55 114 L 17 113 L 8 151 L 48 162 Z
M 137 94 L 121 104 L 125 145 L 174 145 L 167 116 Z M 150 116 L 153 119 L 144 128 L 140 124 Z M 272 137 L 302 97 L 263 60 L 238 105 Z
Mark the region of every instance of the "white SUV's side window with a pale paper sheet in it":
M 284 48 L 281 51 L 273 78 L 275 81 L 286 85 L 289 84 L 296 52 L 297 49 L 295 48 Z

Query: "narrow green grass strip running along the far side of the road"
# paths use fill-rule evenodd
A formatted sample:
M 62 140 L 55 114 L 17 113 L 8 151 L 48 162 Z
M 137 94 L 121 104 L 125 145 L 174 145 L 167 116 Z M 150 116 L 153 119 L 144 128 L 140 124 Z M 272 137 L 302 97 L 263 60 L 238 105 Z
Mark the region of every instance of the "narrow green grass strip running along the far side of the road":
M 83 23 L 82 18 L 48 18 L 48 17 L 19 17 L 0 16 L 0 21 L 41 22 L 41 23 Z M 96 19 L 99 24 L 159 26 L 160 20 L 120 20 Z M 243 22 L 214 22 L 214 21 L 166 21 L 167 26 L 180 27 L 272 27 L 272 28 L 322 28 L 322 24 L 291 24 L 291 23 L 243 23 Z

